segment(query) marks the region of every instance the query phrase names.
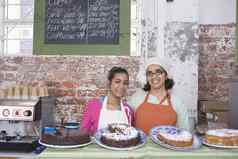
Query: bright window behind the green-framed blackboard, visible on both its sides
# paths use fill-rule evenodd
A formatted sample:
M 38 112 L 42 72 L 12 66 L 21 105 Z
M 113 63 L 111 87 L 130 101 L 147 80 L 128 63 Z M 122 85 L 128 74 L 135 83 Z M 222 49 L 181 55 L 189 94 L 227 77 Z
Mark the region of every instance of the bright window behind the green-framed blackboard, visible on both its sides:
M 137 1 L 131 0 L 132 56 L 139 55 Z M 32 55 L 33 15 L 34 0 L 0 0 L 0 55 Z

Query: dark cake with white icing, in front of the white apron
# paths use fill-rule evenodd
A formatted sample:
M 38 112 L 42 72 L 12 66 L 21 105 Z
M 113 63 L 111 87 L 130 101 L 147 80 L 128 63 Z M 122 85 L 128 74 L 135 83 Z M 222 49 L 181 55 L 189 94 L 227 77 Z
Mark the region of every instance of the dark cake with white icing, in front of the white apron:
M 101 142 L 111 147 L 131 147 L 140 142 L 140 134 L 127 124 L 113 123 L 102 133 Z

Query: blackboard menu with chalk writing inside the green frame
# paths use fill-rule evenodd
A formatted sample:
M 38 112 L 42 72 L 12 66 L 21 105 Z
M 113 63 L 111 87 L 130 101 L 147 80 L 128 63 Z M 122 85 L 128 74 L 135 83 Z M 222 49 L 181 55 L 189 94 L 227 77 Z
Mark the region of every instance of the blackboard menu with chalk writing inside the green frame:
M 118 44 L 120 0 L 46 0 L 46 44 Z

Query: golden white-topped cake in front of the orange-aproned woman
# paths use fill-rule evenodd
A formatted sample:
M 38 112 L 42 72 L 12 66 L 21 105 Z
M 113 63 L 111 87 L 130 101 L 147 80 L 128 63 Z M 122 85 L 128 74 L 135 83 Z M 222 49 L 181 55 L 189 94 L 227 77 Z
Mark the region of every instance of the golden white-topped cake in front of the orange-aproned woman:
M 172 126 L 159 128 L 157 137 L 161 142 L 175 147 L 193 145 L 193 135 L 189 131 Z

